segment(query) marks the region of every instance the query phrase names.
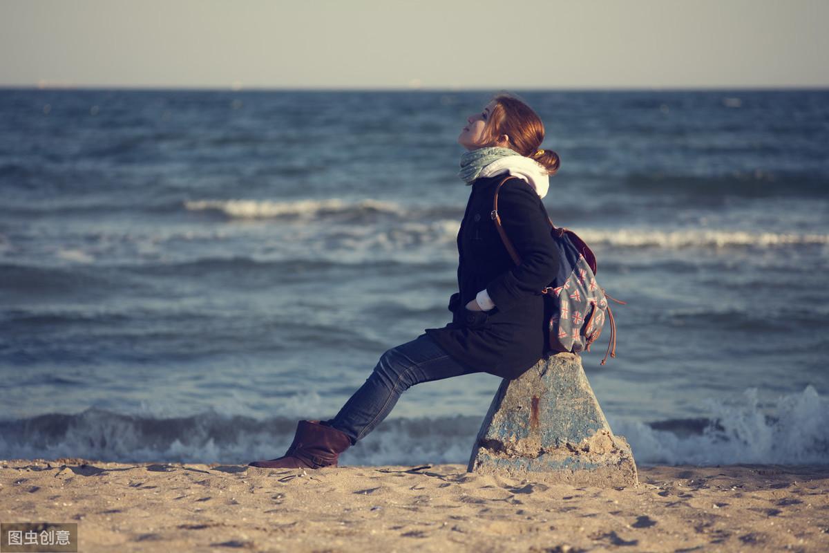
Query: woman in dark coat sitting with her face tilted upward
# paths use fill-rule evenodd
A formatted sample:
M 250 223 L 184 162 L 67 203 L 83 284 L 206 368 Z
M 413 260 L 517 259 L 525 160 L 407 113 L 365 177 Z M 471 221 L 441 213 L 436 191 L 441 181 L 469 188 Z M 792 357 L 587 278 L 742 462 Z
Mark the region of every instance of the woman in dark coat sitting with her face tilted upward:
M 555 244 L 541 202 L 558 154 L 539 149 L 544 124 L 521 99 L 496 95 L 467 119 L 458 143 L 458 177 L 471 185 L 458 230 L 458 292 L 449 299 L 452 323 L 427 328 L 385 352 L 374 371 L 331 420 L 300 420 L 283 457 L 262 468 L 337 466 L 339 454 L 380 424 L 400 394 L 420 382 L 473 372 L 516 378 L 549 349 L 543 289 L 558 270 Z M 511 260 L 497 233 L 492 199 L 497 184 L 502 226 L 521 258 Z

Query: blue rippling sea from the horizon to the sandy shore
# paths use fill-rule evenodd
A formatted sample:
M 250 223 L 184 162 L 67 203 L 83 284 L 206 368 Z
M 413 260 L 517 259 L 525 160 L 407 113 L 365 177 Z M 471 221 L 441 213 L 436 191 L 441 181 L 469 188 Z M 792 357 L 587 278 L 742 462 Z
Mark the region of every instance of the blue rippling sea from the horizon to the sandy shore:
M 0 458 L 248 463 L 457 289 L 495 90 L 0 89 Z M 642 465 L 829 463 L 829 90 L 513 90 L 613 298 L 582 355 Z M 497 376 L 342 465 L 466 463 Z

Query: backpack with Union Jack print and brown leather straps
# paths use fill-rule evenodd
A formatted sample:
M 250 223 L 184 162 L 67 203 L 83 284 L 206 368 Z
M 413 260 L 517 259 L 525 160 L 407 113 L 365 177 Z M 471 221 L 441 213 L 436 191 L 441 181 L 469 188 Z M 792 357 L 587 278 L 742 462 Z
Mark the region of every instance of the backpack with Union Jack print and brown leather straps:
M 495 189 L 491 216 L 507 252 L 517 265 L 521 264 L 521 257 L 501 226 L 501 216 L 498 214 L 498 191 L 509 178 L 511 175 L 505 177 Z M 596 256 L 584 240 L 572 230 L 553 225 L 549 215 L 547 221 L 550 223 L 550 237 L 558 247 L 560 259 L 559 273 L 541 290 L 552 313 L 548 323 L 550 348 L 556 352 L 589 352 L 590 344 L 599 337 L 607 319 L 610 322 L 610 341 L 601 362 L 604 365 L 608 354 L 616 357 L 616 323 L 608 299 L 616 303 L 625 302 L 611 298 L 596 282 Z

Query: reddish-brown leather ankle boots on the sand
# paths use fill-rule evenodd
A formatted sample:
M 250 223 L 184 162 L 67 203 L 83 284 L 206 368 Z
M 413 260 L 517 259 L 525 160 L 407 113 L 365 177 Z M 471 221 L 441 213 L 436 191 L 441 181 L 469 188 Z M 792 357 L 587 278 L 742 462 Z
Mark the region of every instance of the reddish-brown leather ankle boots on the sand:
M 319 424 L 318 420 L 300 420 L 288 451 L 269 461 L 254 461 L 259 468 L 322 468 L 336 467 L 337 458 L 351 446 L 347 434 Z

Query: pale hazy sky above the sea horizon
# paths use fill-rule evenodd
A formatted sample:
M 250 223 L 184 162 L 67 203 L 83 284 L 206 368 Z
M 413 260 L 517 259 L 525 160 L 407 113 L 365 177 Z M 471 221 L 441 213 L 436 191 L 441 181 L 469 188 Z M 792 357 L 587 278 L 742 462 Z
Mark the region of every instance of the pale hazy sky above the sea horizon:
M 827 0 L 0 0 L 0 85 L 829 86 Z

